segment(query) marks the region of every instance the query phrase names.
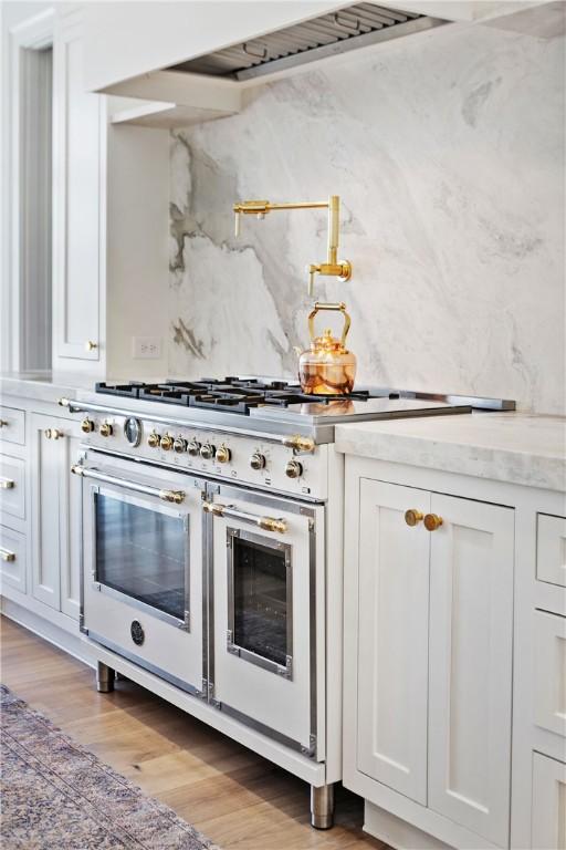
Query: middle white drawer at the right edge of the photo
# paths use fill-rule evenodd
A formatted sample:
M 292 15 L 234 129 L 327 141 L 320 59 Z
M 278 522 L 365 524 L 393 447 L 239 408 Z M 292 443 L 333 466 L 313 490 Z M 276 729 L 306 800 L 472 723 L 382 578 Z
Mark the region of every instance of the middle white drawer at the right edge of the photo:
M 566 618 L 535 611 L 534 721 L 566 737 Z

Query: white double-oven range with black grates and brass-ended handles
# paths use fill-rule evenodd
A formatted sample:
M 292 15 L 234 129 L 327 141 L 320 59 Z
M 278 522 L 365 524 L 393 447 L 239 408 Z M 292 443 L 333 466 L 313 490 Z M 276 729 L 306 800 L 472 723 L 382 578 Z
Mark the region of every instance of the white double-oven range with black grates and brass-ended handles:
M 83 415 L 81 630 L 114 672 L 292 770 L 332 825 L 340 778 L 337 423 L 500 401 L 305 396 L 265 379 L 98 384 Z

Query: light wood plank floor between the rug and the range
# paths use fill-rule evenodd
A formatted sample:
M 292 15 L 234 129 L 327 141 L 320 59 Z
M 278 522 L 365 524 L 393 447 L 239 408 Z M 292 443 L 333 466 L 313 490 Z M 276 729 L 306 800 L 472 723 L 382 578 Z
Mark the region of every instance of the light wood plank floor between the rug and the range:
M 1 680 L 33 708 L 223 850 L 382 850 L 360 800 L 337 789 L 336 826 L 308 825 L 310 789 L 132 682 L 98 694 L 94 673 L 1 618 Z

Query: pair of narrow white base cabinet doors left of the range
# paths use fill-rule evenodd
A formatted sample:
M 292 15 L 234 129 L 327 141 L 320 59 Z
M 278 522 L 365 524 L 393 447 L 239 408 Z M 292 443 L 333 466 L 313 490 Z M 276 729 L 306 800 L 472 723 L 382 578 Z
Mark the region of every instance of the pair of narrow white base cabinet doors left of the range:
M 71 419 L 31 415 L 32 595 L 78 619 L 80 491 L 71 480 L 80 431 Z

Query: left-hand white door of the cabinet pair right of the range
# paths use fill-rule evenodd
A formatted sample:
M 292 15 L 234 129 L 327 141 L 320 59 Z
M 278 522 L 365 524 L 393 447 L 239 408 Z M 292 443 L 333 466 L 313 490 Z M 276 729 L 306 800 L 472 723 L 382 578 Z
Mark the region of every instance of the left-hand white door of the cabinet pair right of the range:
M 430 494 L 360 481 L 358 769 L 427 802 Z

